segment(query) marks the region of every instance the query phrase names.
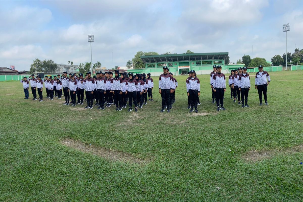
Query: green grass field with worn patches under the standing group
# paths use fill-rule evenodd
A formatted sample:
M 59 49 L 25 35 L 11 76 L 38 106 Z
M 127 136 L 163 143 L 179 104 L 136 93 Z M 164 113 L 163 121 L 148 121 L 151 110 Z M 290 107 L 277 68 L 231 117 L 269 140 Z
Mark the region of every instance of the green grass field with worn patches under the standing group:
M 219 112 L 198 75 L 198 114 L 186 76 L 171 113 L 156 78 L 138 113 L 25 100 L 22 84 L 0 82 L 0 201 L 302 201 L 303 71 L 270 75 L 268 106 L 251 74 L 251 107 L 227 89 Z

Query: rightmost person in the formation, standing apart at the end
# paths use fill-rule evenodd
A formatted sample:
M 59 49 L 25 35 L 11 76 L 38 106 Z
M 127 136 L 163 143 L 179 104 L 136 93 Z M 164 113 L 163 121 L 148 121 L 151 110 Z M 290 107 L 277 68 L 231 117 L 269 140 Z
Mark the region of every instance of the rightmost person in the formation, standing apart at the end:
M 258 89 L 260 106 L 262 106 L 262 93 L 264 95 L 265 105 L 268 105 L 267 86 L 269 85 L 270 82 L 270 76 L 267 71 L 263 71 L 262 65 L 259 65 L 258 69 L 259 71 L 256 73 L 256 78 L 255 78 L 255 88 Z

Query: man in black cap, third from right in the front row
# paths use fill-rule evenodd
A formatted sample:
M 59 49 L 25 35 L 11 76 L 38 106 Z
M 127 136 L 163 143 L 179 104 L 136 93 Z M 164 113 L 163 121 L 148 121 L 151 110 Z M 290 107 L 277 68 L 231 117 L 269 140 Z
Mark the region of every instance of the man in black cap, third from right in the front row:
M 223 106 L 224 92 L 226 91 L 226 79 L 225 75 L 221 73 L 222 67 L 218 65 L 217 72 L 212 77 L 212 84 L 214 87 L 214 92 L 216 93 L 217 111 L 226 110 Z M 221 104 L 221 107 L 220 107 Z

